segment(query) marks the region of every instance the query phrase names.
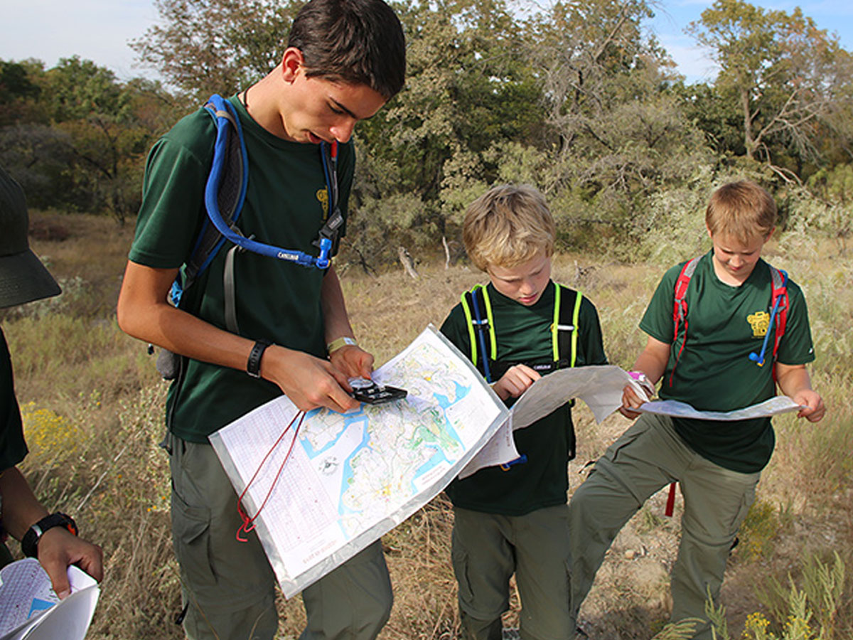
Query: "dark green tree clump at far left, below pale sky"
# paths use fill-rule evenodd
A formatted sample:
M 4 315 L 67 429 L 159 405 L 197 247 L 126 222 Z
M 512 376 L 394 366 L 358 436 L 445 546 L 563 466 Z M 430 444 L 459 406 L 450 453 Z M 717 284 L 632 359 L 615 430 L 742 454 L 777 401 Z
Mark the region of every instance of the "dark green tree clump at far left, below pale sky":
M 29 87 L 26 104 L 18 97 L 20 117 L 0 125 L 0 162 L 33 206 L 106 211 L 124 221 L 138 206 L 148 147 L 173 119 L 170 96 L 148 80 L 120 83 L 77 56 L 47 71 L 40 62 L 22 67 L 14 86 Z

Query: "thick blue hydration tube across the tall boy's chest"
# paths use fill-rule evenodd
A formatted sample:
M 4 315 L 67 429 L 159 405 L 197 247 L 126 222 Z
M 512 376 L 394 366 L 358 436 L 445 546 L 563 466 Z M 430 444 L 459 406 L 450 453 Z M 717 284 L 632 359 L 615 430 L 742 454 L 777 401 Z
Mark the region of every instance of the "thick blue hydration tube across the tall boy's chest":
M 243 155 L 243 166 L 247 166 L 246 142 L 243 140 L 240 118 L 237 116 L 234 106 L 231 105 L 227 100 L 222 100 L 222 102 L 220 102 L 219 104 L 214 103 L 214 106 L 220 110 L 221 107 L 224 106 L 228 109 L 228 112 L 234 119 L 238 136 L 240 137 L 241 153 Z M 307 267 L 316 266 L 318 269 L 327 268 L 329 265 L 329 253 L 331 253 L 332 251 L 332 241 L 328 238 L 321 238 L 320 255 L 315 258 L 313 256 L 310 256 L 308 253 L 303 253 L 296 249 L 283 249 L 274 245 L 264 244 L 264 242 L 251 240 L 233 230 L 231 227 L 229 227 L 228 224 L 225 224 L 225 221 L 222 218 L 222 213 L 219 212 L 218 194 L 219 183 L 222 180 L 222 172 L 225 164 L 225 156 L 227 155 L 225 153 L 225 146 L 227 142 L 228 125 L 218 120 L 216 147 L 213 154 L 213 166 L 211 167 L 211 172 L 210 175 L 207 177 L 207 183 L 205 186 L 205 207 L 207 208 L 207 215 L 209 218 L 211 218 L 213 226 L 217 228 L 217 230 L 223 235 L 223 237 L 233 242 L 238 247 L 246 249 L 247 251 L 251 251 L 252 253 L 259 253 L 261 255 L 267 256 L 268 258 L 288 260 L 290 262 L 295 262 L 298 265 L 303 265 Z M 324 149 L 322 151 L 323 153 L 325 153 Z M 237 211 L 240 211 L 243 204 L 243 200 L 246 197 L 247 182 L 248 172 L 243 172 L 243 184 L 241 187 L 240 200 L 237 204 Z M 331 194 L 329 194 L 329 197 L 331 199 Z

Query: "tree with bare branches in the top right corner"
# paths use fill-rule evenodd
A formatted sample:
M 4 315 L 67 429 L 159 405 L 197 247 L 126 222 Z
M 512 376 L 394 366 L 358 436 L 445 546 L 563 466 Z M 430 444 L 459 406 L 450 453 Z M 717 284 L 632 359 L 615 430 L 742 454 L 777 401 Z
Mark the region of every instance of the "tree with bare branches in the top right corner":
M 740 113 L 746 157 L 797 177 L 818 155 L 821 122 L 850 82 L 838 39 L 798 8 L 787 14 L 743 0 L 717 0 L 689 28 L 720 67 L 716 90 Z

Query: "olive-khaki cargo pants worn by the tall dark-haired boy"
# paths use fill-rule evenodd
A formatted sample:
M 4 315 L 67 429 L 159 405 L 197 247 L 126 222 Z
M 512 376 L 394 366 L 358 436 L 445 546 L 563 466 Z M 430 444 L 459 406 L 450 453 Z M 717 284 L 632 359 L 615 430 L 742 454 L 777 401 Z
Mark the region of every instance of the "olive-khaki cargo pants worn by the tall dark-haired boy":
M 181 566 L 184 631 L 192 640 L 271 640 L 275 574 L 255 532 L 237 542 L 237 496 L 211 445 L 169 434 L 172 544 Z M 380 541 L 302 592 L 300 640 L 373 640 L 391 614 Z

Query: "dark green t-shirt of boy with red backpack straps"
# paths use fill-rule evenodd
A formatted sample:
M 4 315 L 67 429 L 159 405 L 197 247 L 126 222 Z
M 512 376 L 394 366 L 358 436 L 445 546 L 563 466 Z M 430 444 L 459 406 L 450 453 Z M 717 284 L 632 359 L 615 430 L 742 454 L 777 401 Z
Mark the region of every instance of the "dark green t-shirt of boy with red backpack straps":
M 749 359 L 750 352 L 761 351 L 767 332 L 772 295 L 769 266 L 759 259 L 746 281 L 740 287 L 732 287 L 717 277 L 711 253 L 702 256 L 690 279 L 688 337 L 678 356 L 684 332 L 679 327 L 673 344 L 672 311 L 676 280 L 684 264 L 664 274 L 640 323 L 640 329 L 648 335 L 672 345 L 660 397 L 708 411 L 742 409 L 772 398 L 775 382 L 771 358 L 775 335 L 770 337 L 763 367 Z M 802 290 L 790 278 L 787 288 L 787 325 L 780 341 L 778 361 L 806 364 L 815 359 L 809 314 Z M 672 375 L 674 366 L 675 375 Z M 673 423 L 676 433 L 694 451 L 733 471 L 745 474 L 760 471 L 773 453 L 775 437 L 769 417 L 736 422 L 675 418 Z

